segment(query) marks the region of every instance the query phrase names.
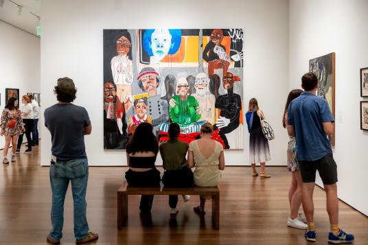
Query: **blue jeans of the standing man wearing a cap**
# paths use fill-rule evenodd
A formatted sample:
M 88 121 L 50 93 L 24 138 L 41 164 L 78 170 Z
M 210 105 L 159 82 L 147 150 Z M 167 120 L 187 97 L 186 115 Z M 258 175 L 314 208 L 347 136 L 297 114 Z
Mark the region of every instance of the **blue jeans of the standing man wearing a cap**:
M 52 191 L 50 235 L 54 239 L 62 237 L 64 224 L 64 200 L 71 181 L 71 191 L 74 202 L 74 235 L 82 239 L 88 235 L 89 227 L 86 217 L 86 192 L 88 182 L 88 160 L 73 159 L 69 161 L 56 161 L 50 165 L 50 183 Z

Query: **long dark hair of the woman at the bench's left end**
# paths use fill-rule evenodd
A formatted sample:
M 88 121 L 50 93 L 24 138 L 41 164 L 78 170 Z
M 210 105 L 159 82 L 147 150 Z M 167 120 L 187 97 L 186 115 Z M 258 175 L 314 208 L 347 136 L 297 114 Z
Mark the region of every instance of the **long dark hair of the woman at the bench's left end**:
M 154 154 L 157 154 L 159 152 L 159 142 L 152 130 L 153 127 L 151 124 L 139 124 L 126 145 L 126 153 L 154 152 Z

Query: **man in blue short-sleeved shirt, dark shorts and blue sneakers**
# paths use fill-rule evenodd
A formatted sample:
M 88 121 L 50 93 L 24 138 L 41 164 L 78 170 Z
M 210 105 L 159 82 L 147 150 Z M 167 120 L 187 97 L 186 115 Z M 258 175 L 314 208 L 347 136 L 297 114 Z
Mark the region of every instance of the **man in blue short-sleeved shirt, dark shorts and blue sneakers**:
M 306 73 L 301 78 L 304 89 L 288 108 L 288 133 L 297 139 L 297 159 L 303 180 L 303 209 L 308 220 L 305 237 L 316 241 L 316 227 L 313 222 L 313 191 L 316 172 L 323 181 L 327 196 L 327 213 L 330 217 L 331 232 L 328 241 L 349 243 L 354 236 L 338 228 L 337 166 L 327 135 L 334 132 L 334 117 L 327 102 L 316 96 L 318 78 L 314 73 Z

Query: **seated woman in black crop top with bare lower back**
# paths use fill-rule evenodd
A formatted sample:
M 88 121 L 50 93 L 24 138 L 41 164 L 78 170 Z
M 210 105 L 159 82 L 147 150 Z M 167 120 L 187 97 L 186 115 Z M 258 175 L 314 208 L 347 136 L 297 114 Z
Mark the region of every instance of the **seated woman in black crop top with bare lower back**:
M 125 173 L 130 186 L 155 186 L 161 181 L 159 170 L 154 167 L 159 143 L 152 132 L 151 124 L 141 123 L 126 145 L 126 160 L 129 170 Z M 142 213 L 150 213 L 153 195 L 142 195 L 139 209 Z

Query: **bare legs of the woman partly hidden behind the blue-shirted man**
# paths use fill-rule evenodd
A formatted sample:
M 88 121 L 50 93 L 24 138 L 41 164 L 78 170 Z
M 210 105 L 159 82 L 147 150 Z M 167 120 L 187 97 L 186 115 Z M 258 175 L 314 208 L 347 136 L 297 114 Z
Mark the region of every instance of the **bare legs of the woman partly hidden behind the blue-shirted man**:
M 290 218 L 295 220 L 298 216 L 299 208 L 301 205 L 301 193 L 302 193 L 303 182 L 301 180 L 301 174 L 299 170 L 292 172 L 292 183 L 289 190 L 289 200 L 290 192 L 294 189 L 290 200 Z

